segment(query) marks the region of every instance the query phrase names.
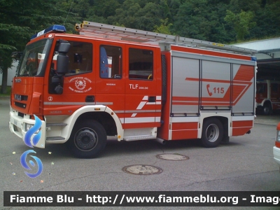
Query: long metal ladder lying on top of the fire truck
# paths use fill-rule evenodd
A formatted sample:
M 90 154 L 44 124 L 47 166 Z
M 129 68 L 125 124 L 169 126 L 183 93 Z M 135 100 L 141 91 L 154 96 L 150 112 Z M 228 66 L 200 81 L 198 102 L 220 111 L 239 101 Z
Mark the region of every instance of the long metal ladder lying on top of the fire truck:
M 180 36 L 159 34 L 151 31 L 142 31 L 113 25 L 106 25 L 97 22 L 83 21 L 81 24 L 76 24 L 76 31 L 86 36 L 97 36 L 102 38 L 118 38 L 125 41 L 138 41 L 148 43 L 166 43 L 173 45 L 183 45 L 193 48 L 204 48 L 210 50 L 218 50 L 224 52 L 237 52 L 246 55 L 252 55 L 257 50 L 240 48 L 232 45 L 214 43 L 210 41 L 202 41 L 193 38 L 185 38 Z

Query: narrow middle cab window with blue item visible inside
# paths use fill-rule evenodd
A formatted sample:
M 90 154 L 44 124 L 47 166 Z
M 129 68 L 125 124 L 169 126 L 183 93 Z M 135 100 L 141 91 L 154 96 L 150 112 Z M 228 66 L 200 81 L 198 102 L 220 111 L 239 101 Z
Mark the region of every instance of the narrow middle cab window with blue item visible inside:
M 122 78 L 122 48 L 101 45 L 99 54 L 100 78 Z

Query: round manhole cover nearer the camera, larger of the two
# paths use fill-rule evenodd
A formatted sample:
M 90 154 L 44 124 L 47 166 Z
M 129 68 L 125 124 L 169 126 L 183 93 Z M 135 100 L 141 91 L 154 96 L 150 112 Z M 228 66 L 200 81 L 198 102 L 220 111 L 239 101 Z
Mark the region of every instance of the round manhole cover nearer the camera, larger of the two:
M 160 174 L 162 172 L 162 169 L 160 167 L 151 165 L 130 165 L 127 167 L 123 167 L 123 171 L 129 174 L 152 175 Z

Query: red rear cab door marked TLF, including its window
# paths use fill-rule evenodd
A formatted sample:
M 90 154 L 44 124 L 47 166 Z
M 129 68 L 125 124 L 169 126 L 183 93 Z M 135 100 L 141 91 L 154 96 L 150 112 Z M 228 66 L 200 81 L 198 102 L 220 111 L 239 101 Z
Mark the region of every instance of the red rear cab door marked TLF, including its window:
M 155 50 L 130 46 L 127 53 L 124 128 L 157 127 L 161 97 L 157 94 Z

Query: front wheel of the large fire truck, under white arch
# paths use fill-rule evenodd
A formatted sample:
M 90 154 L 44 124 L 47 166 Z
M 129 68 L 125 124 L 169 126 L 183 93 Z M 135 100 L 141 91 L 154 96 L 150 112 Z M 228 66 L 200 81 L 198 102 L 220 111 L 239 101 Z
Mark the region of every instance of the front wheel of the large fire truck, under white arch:
M 73 127 L 69 146 L 78 158 L 96 158 L 104 150 L 106 141 L 104 127 L 95 120 L 85 120 Z

